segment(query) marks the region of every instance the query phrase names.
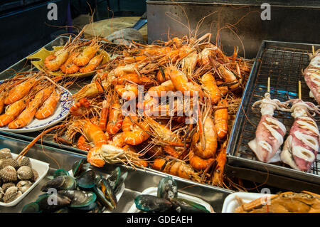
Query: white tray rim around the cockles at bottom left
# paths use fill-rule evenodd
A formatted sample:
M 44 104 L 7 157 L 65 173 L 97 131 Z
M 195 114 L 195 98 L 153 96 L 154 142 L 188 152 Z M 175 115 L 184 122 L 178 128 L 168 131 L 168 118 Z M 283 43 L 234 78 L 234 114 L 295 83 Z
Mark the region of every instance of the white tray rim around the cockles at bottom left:
M 14 158 L 18 156 L 18 154 L 14 154 L 14 153 L 11 153 L 11 154 L 12 154 L 12 157 Z M 31 159 L 31 158 L 29 159 L 31 161 L 32 169 L 36 169 L 36 171 L 39 174 L 38 179 L 36 180 L 36 182 L 32 184 L 32 186 L 27 191 L 21 194 L 21 196 L 18 196 L 17 199 L 7 204 L 0 202 L 0 206 L 16 206 L 16 204 L 18 204 L 18 202 L 20 202 L 35 186 L 37 186 L 37 184 L 39 184 L 39 182 L 43 179 L 43 177 L 46 176 L 49 169 L 49 164 L 46 162 L 41 162 L 36 159 Z

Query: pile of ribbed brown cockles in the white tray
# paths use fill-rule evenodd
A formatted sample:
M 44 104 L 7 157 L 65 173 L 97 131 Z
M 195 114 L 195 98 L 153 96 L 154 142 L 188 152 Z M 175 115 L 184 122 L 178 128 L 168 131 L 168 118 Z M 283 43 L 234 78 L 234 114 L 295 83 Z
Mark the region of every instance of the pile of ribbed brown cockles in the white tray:
M 0 201 L 10 203 L 26 192 L 38 179 L 28 157 L 17 161 L 8 148 L 0 149 Z

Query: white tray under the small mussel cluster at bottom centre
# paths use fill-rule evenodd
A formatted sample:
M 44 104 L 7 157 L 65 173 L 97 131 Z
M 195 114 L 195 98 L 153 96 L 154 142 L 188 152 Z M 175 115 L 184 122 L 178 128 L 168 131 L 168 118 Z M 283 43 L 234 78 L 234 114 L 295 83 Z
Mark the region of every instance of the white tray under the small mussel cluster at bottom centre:
M 151 187 L 148 189 L 145 189 L 144 191 L 142 191 L 142 194 L 144 195 L 151 195 L 151 196 L 156 196 L 158 191 L 158 188 L 156 187 Z M 208 204 L 206 201 L 203 201 L 202 199 L 199 199 L 197 197 L 194 196 L 189 196 L 187 194 L 183 194 L 181 192 L 178 192 L 178 198 L 181 199 L 188 199 L 189 201 L 193 201 L 197 204 L 201 204 L 202 206 L 206 207 L 206 209 L 208 211 L 210 211 L 211 213 L 213 213 L 213 208 L 210 206 L 210 204 Z M 128 213 L 139 213 L 139 209 L 136 207 L 136 204 L 132 204 L 132 206 L 129 208 L 129 211 L 127 211 Z

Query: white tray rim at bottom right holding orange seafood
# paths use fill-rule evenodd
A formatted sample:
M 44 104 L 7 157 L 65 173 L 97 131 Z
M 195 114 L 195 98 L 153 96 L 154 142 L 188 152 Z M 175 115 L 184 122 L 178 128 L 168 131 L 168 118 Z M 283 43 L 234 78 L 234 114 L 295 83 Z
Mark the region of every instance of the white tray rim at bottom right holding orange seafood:
M 266 197 L 272 196 L 272 194 L 262 194 L 262 193 L 249 193 L 249 192 L 235 192 L 233 194 L 228 195 L 223 202 L 223 210 L 222 213 L 234 213 L 235 209 L 240 206 L 236 197 L 242 199 L 244 203 L 250 203 L 251 201 Z

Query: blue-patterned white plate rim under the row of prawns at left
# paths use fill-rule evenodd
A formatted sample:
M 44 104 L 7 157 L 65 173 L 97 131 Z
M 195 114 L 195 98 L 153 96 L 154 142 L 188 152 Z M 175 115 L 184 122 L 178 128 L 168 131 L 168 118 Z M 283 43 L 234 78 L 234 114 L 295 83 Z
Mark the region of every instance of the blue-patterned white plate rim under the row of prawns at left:
M 0 81 L 1 83 L 1 81 Z M 63 93 L 61 93 L 60 101 L 55 108 L 55 112 L 50 117 L 47 117 L 43 120 L 38 120 L 33 118 L 29 125 L 26 127 L 21 127 L 20 129 L 9 129 L 8 126 L 0 127 L 1 131 L 6 132 L 35 132 L 38 130 L 43 130 L 47 127 L 57 124 L 61 120 L 67 117 L 70 107 L 73 105 L 72 94 L 67 89 L 60 87 L 63 89 Z

